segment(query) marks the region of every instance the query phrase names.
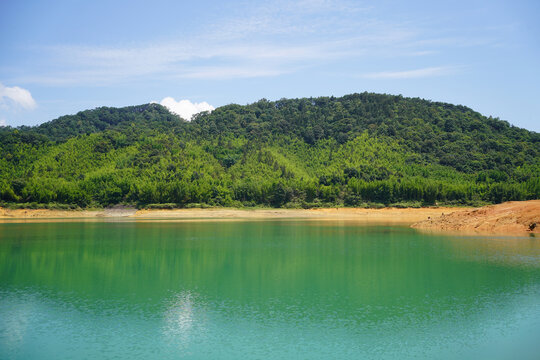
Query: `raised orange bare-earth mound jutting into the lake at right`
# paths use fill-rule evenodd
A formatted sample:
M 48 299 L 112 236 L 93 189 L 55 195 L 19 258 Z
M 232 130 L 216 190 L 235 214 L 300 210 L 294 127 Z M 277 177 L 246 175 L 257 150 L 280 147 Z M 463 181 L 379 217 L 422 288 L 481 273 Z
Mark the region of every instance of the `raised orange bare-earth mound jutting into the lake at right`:
M 540 200 L 510 201 L 455 211 L 412 225 L 417 229 L 520 234 L 540 232 Z

